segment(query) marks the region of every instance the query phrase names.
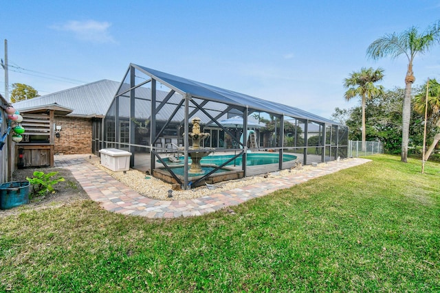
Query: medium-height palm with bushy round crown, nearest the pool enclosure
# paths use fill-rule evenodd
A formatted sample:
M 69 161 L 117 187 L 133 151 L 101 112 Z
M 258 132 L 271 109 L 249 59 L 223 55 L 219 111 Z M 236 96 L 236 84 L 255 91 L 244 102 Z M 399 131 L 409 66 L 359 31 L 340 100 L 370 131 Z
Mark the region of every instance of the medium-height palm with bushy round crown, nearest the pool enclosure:
M 384 69 L 378 68 L 374 70 L 372 67 L 366 69 L 362 67 L 360 72 L 354 72 L 349 78 L 344 80 L 344 87 L 348 90 L 345 92 L 345 99 L 349 101 L 353 97 L 361 97 L 362 99 L 362 150 L 365 150 L 366 129 L 365 129 L 365 108 L 366 100 L 371 99 L 375 95 L 383 93 L 382 86 L 376 87 L 375 82 L 384 78 Z

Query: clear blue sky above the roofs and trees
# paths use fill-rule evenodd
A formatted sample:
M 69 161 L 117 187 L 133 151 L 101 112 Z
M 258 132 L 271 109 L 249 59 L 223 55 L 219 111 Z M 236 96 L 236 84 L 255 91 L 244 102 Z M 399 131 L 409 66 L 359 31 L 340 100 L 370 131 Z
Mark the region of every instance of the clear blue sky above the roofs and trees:
M 362 67 L 382 67 L 386 89 L 404 87 L 406 58 L 368 60 L 373 40 L 440 19 L 440 0 L 0 3 L 9 84 L 40 95 L 120 82 L 133 62 L 326 118 L 359 103 L 344 100 L 342 83 Z M 415 84 L 440 79 L 440 45 L 416 58 L 414 73 Z M 1 70 L 2 95 L 4 82 Z

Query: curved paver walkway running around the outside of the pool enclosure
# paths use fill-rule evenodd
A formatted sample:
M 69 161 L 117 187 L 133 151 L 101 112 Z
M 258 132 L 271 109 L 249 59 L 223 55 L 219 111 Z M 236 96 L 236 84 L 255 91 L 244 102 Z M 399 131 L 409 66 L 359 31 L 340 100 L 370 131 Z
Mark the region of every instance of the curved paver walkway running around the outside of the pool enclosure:
M 348 159 L 320 163 L 301 173 L 271 178 L 258 184 L 247 185 L 190 200 L 155 200 L 137 194 L 120 181 L 87 161 L 89 155 L 55 156 L 55 167 L 69 169 L 91 200 L 99 202 L 107 211 L 146 218 L 179 218 L 203 215 L 224 207 L 259 198 L 278 189 L 286 189 L 308 180 L 325 176 L 341 169 L 362 165 L 371 160 Z

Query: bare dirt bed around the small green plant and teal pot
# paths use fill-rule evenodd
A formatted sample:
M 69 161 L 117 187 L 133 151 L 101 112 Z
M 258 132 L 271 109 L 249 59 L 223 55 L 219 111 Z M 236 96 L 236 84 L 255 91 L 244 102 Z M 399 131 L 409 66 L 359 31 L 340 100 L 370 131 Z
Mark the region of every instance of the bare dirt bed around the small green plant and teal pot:
M 69 169 L 63 168 L 26 168 L 17 169 L 12 174 L 12 181 L 27 181 L 26 177 L 32 178 L 34 171 L 41 171 L 45 174 L 49 172 L 58 172 L 54 178 L 63 177 L 65 181 L 61 181 L 54 185 L 55 192 L 47 194 L 46 196 L 39 196 L 32 198 L 29 204 L 24 204 L 20 207 L 12 209 L 0 209 L 0 218 L 7 215 L 15 215 L 25 211 L 33 211 L 39 209 L 48 209 L 52 207 L 61 207 L 64 204 L 69 204 L 76 200 L 90 199 L 87 193 L 81 187 L 80 183 L 72 175 Z M 32 189 L 32 187 L 31 187 Z

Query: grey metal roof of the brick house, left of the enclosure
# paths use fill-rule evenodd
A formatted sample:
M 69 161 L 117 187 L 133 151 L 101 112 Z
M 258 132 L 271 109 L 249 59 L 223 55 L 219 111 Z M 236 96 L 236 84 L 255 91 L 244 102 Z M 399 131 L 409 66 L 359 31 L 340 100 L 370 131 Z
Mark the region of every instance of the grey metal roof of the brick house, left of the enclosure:
M 99 80 L 72 89 L 34 97 L 14 103 L 17 110 L 30 110 L 31 108 L 42 108 L 43 105 L 57 104 L 62 108 L 72 110 L 68 116 L 76 117 L 103 117 L 107 112 L 120 82 L 113 80 Z

